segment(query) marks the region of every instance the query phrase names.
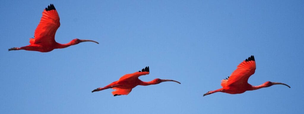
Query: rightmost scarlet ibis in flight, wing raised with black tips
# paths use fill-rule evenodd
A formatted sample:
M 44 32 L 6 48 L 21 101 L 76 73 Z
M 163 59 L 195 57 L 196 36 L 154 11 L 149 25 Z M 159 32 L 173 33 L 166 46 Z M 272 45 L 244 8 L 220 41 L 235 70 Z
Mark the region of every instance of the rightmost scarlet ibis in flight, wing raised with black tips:
M 261 89 L 264 87 L 270 87 L 272 85 L 276 84 L 282 84 L 290 88 L 287 84 L 284 83 L 278 83 L 278 82 L 270 82 L 267 81 L 264 84 L 261 84 L 259 86 L 252 86 L 248 84 L 248 78 L 254 74 L 255 71 L 255 60 L 254 56 L 251 55 L 248 59 L 240 63 L 240 65 L 237 66 L 237 69 L 232 72 L 230 77 L 222 80 L 221 86 L 223 88 L 214 90 L 214 91 L 209 91 L 204 96 L 216 93 L 216 92 L 224 92 L 224 93 L 229 93 L 229 94 L 239 94 L 239 93 L 244 93 L 245 91 L 248 90 L 257 90 Z

